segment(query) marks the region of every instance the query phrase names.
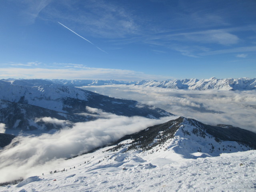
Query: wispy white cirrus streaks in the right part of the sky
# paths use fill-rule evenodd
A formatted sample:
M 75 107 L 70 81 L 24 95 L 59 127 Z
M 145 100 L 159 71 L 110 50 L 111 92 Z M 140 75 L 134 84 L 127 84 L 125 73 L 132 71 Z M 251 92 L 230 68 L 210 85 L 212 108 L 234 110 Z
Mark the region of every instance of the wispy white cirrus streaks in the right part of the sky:
M 162 32 L 148 34 L 132 40 L 124 40 L 122 43 L 144 42 L 150 46 L 167 48 L 180 52 L 184 56 L 202 57 L 210 54 L 221 54 L 216 49 L 222 48 L 228 51 L 230 46 L 238 46 L 240 38 L 232 34 L 234 31 L 244 30 L 244 28 L 226 28 L 221 30 L 197 30 L 193 32 Z M 155 50 L 156 50 L 155 48 Z M 228 49 L 227 49 L 228 48 Z M 214 53 L 214 51 L 216 51 Z M 244 49 L 244 51 L 248 51 Z

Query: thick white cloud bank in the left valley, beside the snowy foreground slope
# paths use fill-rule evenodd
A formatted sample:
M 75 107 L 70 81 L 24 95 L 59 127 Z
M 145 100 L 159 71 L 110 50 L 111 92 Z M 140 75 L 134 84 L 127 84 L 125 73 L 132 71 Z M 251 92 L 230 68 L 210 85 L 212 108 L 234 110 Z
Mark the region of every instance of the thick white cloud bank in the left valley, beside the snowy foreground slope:
M 160 120 L 134 116 L 117 116 L 115 114 L 97 112 L 97 120 L 79 122 L 72 128 L 64 128 L 54 134 L 40 136 L 18 136 L 12 143 L 0 150 L 0 182 L 7 182 L 20 177 L 41 175 L 51 170 L 70 167 L 68 160 L 77 154 L 88 152 L 99 146 L 111 144 L 126 134 L 132 134 L 168 120 L 176 118 L 164 117 Z M 43 118 L 44 121 L 68 124 L 63 120 Z M 6 161 L 8 159 L 8 161 Z

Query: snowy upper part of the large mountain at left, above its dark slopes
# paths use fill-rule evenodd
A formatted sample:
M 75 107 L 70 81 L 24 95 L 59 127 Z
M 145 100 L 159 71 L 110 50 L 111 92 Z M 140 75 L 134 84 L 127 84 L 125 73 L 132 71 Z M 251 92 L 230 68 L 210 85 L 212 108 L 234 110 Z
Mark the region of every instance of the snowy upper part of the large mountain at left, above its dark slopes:
M 86 90 L 60 86 L 45 80 L 15 80 L 12 83 L 0 81 L 0 99 L 59 112 L 66 112 L 63 110 L 65 105 L 62 98 L 87 100 L 89 95 Z

